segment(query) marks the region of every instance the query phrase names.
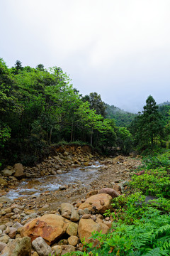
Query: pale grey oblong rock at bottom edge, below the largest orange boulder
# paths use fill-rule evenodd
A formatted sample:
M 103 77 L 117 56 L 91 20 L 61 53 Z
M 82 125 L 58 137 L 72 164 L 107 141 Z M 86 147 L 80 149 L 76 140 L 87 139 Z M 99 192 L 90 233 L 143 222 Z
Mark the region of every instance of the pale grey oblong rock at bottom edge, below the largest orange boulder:
M 33 240 L 32 245 L 39 256 L 48 256 L 52 252 L 52 248 L 41 237 Z

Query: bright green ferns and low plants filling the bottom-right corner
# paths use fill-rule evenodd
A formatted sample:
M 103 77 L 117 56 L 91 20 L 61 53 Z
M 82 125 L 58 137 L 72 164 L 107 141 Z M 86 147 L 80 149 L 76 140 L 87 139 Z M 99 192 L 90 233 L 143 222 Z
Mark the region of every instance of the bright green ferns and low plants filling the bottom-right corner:
M 139 202 L 142 203 L 140 206 L 138 206 Z M 124 210 L 122 203 L 125 206 Z M 134 212 L 133 223 L 127 225 L 128 221 L 115 219 L 111 233 L 92 234 L 91 238 L 98 241 L 98 246 L 93 247 L 92 243 L 85 243 L 87 252 L 91 251 L 92 255 L 97 252 L 100 256 L 169 255 L 170 215 L 162 215 L 160 210 L 146 205 L 139 193 L 121 198 L 120 202 L 117 199 L 116 206 L 123 210 L 123 215 L 127 215 L 126 220 L 132 218 L 132 212 Z M 137 208 L 142 210 L 136 210 Z

